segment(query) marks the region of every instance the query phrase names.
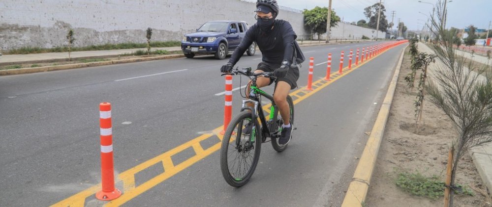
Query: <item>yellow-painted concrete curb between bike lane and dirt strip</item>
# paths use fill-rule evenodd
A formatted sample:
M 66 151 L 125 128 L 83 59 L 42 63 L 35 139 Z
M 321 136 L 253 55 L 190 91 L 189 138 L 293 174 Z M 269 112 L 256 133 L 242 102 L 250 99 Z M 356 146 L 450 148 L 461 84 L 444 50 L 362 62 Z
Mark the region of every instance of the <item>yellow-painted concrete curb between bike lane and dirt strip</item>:
M 408 47 L 408 45 L 405 46 L 405 49 L 406 47 Z M 405 54 L 405 49 L 401 52 L 400 61 L 396 66 L 395 74 L 393 75 L 386 97 L 379 109 L 364 152 L 362 152 L 359 164 L 355 169 L 353 180 L 350 182 L 345 198 L 343 199 L 342 207 L 362 207 L 366 201 L 370 180 L 377 160 L 377 154 L 379 152 L 379 147 L 381 146 L 381 140 L 390 113 L 391 103 L 393 102 L 398 76 L 400 75 L 400 67 L 401 62 L 403 61 L 403 55 Z

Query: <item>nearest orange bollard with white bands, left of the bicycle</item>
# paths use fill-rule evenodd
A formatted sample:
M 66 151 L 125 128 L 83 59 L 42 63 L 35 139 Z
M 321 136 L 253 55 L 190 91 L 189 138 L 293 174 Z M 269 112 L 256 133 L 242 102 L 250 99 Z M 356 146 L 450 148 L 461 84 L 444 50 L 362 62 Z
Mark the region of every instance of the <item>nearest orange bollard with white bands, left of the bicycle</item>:
M 99 104 L 99 126 L 101 141 L 101 178 L 102 189 L 95 197 L 103 201 L 111 201 L 122 195 L 115 188 L 115 174 L 113 164 L 113 128 L 111 126 L 111 103 Z

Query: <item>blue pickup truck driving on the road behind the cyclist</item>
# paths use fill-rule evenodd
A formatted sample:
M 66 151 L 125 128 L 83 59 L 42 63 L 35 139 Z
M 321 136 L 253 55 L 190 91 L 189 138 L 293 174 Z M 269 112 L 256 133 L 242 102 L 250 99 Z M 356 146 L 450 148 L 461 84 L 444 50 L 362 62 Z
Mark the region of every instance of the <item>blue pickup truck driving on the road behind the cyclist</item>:
M 185 34 L 181 50 L 187 58 L 195 54 L 215 54 L 216 59 L 224 59 L 234 52 L 245 37 L 248 25 L 243 21 L 213 21 L 200 26 L 195 33 Z M 254 55 L 255 43 L 249 46 L 247 55 Z

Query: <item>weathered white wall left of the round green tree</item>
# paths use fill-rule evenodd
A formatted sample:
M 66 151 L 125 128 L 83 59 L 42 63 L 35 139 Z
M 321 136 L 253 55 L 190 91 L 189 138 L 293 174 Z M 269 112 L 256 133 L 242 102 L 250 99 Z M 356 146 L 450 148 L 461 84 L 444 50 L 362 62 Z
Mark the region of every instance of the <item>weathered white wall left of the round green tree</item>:
M 154 41 L 181 40 L 207 21 L 252 25 L 254 9 L 242 0 L 0 0 L 0 49 L 64 46 L 69 28 L 75 46 L 143 43 L 147 27 Z M 305 36 L 302 13 L 282 10 L 278 19 Z

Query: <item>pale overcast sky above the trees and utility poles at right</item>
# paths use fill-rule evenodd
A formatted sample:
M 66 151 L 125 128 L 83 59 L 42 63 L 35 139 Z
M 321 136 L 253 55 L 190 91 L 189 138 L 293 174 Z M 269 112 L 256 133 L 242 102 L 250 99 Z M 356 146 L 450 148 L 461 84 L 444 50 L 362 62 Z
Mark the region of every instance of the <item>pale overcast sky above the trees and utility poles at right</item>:
M 315 6 L 328 7 L 328 0 L 277 0 L 281 6 L 295 8 L 299 10 L 312 9 Z M 422 0 L 436 3 L 437 0 Z M 332 8 L 344 22 L 357 22 L 361 19 L 366 20 L 364 8 L 372 5 L 379 0 L 332 0 Z M 448 0 L 449 2 L 449 0 Z M 422 29 L 422 23 L 427 17 L 420 12 L 429 14 L 432 12 L 432 5 L 419 3 L 418 0 L 383 0 L 386 8 L 386 19 L 391 22 L 391 11 L 396 11 L 395 25 L 398 18 L 405 23 L 410 30 Z M 478 28 L 487 29 L 489 21 L 492 20 L 492 0 L 453 0 L 447 4 L 448 20 L 446 27 L 454 26 L 464 28 L 473 24 Z M 420 20 L 419 20 L 420 19 Z M 421 21 L 423 20 L 423 21 Z

